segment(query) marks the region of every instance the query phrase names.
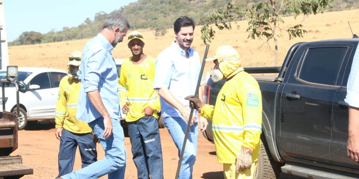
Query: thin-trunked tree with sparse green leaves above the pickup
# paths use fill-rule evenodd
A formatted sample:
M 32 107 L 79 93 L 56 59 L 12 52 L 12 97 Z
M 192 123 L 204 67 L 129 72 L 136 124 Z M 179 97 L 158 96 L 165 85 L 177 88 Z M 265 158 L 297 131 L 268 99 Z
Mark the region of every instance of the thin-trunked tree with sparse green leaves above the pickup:
M 326 8 L 331 7 L 331 0 L 263 0 L 255 3 L 252 8 L 241 10 L 240 8 L 227 4 L 227 7 L 216 9 L 213 13 L 209 14 L 210 23 L 214 23 L 219 29 L 232 29 L 231 22 L 248 20 L 248 38 L 265 38 L 266 41 L 262 44 L 269 44 L 269 40 L 274 39 L 275 44 L 275 57 L 274 65 L 277 66 L 278 56 L 278 35 L 280 30 L 284 29 L 279 24 L 284 21 L 281 14 L 291 13 L 294 18 L 298 15 L 309 15 L 323 13 Z M 302 24 L 287 26 L 286 32 L 289 39 L 303 37 L 306 30 L 302 29 Z M 237 26 L 239 28 L 239 26 Z M 201 29 L 204 43 L 211 42 L 215 37 L 215 31 L 208 24 L 205 24 Z M 262 45 L 258 48 L 261 48 Z

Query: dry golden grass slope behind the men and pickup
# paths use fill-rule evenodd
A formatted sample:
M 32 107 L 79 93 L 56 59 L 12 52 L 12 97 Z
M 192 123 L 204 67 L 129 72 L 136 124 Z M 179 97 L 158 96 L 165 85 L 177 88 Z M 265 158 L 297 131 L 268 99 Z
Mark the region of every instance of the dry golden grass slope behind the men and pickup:
M 297 42 L 309 42 L 323 39 L 339 39 L 351 38 L 348 21 L 354 33 L 359 34 L 359 9 L 326 12 L 323 14 L 309 15 L 303 18 L 294 19 L 292 16 L 283 17 L 287 26 L 290 24 L 303 24 L 303 29 L 308 33 L 304 34 L 304 38 L 289 40 L 286 32 L 278 40 L 278 65 L 281 65 L 288 49 Z M 304 19 L 304 20 L 303 20 Z M 303 22 L 302 22 L 303 20 Z M 131 23 L 131 22 L 130 22 Z M 244 67 L 261 67 L 274 66 L 274 42 L 269 42 L 269 47 L 263 45 L 264 40 L 247 39 L 246 33 L 247 21 L 239 21 L 239 29 L 218 30 L 216 29 L 216 37 L 210 44 L 208 56 L 212 56 L 215 49 L 220 45 L 232 45 L 241 55 Z M 192 48 L 196 49 L 201 57 L 203 56 L 205 45 L 200 39 L 200 26 L 195 28 L 195 38 Z M 130 29 L 130 31 L 133 29 Z M 145 39 L 144 53 L 157 57 L 157 55 L 166 47 L 171 45 L 175 40 L 172 29 L 163 37 L 154 37 L 150 30 L 139 30 L 143 33 Z M 57 43 L 45 43 L 36 45 L 20 45 L 9 47 L 9 63 L 19 67 L 50 67 L 57 69 L 66 69 L 68 57 L 74 50 L 82 50 L 85 43 L 89 39 L 64 41 Z M 131 56 L 131 52 L 127 47 L 127 41 L 119 43 L 112 51 L 114 58 L 126 58 Z M 212 63 L 206 64 L 205 72 L 210 71 Z

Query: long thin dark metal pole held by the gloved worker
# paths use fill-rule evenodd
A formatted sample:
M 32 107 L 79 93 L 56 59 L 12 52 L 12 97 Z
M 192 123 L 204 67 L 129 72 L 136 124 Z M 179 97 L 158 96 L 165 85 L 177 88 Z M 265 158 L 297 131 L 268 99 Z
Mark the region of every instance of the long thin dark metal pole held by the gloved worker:
M 209 49 L 209 44 L 206 44 L 206 49 L 205 49 L 204 55 L 203 55 L 201 71 L 200 71 L 200 75 L 198 77 L 197 86 L 196 86 L 196 92 L 195 92 L 196 97 L 198 96 L 198 91 L 199 91 L 199 88 L 200 88 L 200 85 L 201 85 L 202 73 L 203 73 L 203 70 L 204 70 L 204 65 L 206 63 L 205 59 L 207 58 L 208 49 Z M 182 160 L 183 160 L 183 154 L 185 154 L 188 132 L 190 131 L 190 126 L 191 126 L 190 120 L 192 120 L 193 112 L 194 112 L 194 109 L 191 109 L 190 117 L 188 118 L 188 122 L 187 122 L 187 129 L 186 129 L 185 139 L 183 139 L 183 146 L 182 146 L 182 150 L 181 150 L 180 160 L 178 160 L 178 166 L 177 166 L 177 172 L 176 172 L 175 179 L 178 179 L 178 176 L 180 175 L 181 164 L 182 164 Z

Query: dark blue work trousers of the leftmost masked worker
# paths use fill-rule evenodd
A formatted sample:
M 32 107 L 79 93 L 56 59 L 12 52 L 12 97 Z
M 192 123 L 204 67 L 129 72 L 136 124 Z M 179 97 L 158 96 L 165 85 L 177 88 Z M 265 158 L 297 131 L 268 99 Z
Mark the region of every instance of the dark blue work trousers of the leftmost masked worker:
M 62 129 L 59 151 L 59 176 L 71 173 L 74 169 L 76 148 L 79 146 L 82 168 L 97 161 L 96 143 L 91 133 L 75 134 Z

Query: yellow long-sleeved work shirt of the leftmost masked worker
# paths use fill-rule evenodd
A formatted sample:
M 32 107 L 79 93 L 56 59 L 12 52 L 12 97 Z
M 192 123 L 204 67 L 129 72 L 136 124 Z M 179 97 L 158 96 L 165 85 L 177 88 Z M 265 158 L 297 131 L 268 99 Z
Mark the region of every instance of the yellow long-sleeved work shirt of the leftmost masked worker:
M 80 81 L 69 79 L 69 76 L 65 76 L 61 79 L 55 111 L 55 128 L 63 127 L 77 134 L 92 131 L 87 122 L 76 119 L 79 92 Z

